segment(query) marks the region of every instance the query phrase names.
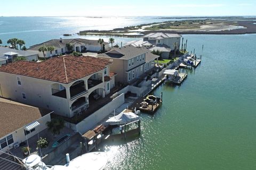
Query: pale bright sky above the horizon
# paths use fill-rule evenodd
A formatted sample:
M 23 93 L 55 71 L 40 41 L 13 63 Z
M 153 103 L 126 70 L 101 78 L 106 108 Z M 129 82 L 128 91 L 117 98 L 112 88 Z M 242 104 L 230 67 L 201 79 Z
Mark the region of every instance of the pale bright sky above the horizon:
M 0 16 L 238 16 L 256 15 L 256 1 L 11 0 Z

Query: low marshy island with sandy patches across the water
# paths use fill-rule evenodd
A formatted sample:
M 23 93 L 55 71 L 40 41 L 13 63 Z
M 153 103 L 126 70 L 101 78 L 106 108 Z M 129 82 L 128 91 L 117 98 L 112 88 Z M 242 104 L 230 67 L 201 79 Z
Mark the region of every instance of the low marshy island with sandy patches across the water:
M 203 17 L 202 17 L 203 18 Z M 191 24 L 190 21 L 193 20 L 181 20 L 176 21 L 181 24 L 179 27 L 175 25 L 170 25 L 170 23 L 175 21 L 165 21 L 165 22 L 154 22 L 149 24 L 141 24 L 136 26 L 130 26 L 125 28 L 116 28 L 113 30 L 85 30 L 80 31 L 78 35 L 95 35 L 95 36 L 118 36 L 118 37 L 142 37 L 143 35 L 151 32 L 165 32 L 165 33 L 178 33 L 178 34 L 212 34 L 212 35 L 236 35 L 236 34 L 246 34 L 246 33 L 256 33 L 256 21 L 255 18 L 226 18 L 227 20 L 222 20 L 220 18 L 212 18 L 203 20 L 196 19 L 195 22 L 204 22 L 202 24 Z M 242 19 L 242 20 L 240 20 Z M 188 24 L 189 22 L 189 24 Z M 209 24 L 209 22 L 212 22 Z M 183 25 L 182 25 L 183 24 Z M 159 28 L 158 28 L 159 25 Z M 163 28 L 164 29 L 160 29 Z M 170 29 L 169 29 L 170 27 Z M 180 29 L 181 28 L 181 29 Z

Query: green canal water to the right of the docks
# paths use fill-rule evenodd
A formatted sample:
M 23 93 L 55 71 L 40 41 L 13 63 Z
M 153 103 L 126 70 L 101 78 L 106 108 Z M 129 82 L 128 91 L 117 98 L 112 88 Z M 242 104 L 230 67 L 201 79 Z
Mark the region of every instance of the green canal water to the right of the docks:
M 162 107 L 141 114 L 139 138 L 105 147 L 106 169 L 256 168 L 256 35 L 183 37 L 201 65 L 155 90 Z

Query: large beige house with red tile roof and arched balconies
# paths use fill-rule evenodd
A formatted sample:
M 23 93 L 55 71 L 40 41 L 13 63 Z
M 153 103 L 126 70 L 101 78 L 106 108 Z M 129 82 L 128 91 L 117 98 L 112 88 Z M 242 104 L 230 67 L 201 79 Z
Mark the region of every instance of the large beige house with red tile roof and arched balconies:
M 0 67 L 0 96 L 73 117 L 115 86 L 111 62 L 90 56 L 18 61 Z

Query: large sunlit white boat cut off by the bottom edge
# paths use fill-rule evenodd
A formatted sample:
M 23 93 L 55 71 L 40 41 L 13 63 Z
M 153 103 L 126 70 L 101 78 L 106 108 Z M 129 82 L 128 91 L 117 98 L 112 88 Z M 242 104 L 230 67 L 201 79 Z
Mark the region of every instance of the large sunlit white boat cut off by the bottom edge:
M 47 167 L 38 155 L 30 155 L 22 160 L 24 165 L 29 170 L 102 170 L 107 162 L 107 154 L 105 152 L 89 152 L 69 162 L 69 156 L 67 156 L 66 165 L 54 165 L 51 168 Z

